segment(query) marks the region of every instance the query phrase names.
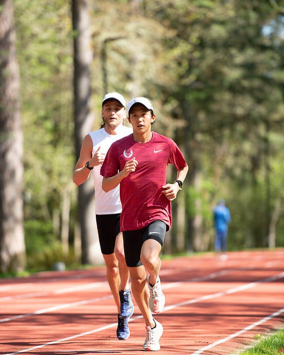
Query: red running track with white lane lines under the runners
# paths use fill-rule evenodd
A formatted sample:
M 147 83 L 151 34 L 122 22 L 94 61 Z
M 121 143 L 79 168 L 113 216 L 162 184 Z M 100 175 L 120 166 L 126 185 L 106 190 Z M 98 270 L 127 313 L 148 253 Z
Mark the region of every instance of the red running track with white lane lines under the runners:
M 166 296 L 155 316 L 164 327 L 161 355 L 225 355 L 283 326 L 284 249 L 230 252 L 226 261 L 209 253 L 163 260 L 160 277 Z M 0 313 L 0 354 L 143 351 L 136 304 L 130 337 L 116 338 L 105 267 L 2 279 Z

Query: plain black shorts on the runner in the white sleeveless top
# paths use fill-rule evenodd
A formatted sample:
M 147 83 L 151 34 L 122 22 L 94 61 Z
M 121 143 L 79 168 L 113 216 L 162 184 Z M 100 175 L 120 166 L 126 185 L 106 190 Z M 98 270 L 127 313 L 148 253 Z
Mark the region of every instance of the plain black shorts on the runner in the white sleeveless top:
M 100 250 L 103 254 L 114 253 L 116 236 L 120 231 L 120 213 L 116 214 L 96 214 Z

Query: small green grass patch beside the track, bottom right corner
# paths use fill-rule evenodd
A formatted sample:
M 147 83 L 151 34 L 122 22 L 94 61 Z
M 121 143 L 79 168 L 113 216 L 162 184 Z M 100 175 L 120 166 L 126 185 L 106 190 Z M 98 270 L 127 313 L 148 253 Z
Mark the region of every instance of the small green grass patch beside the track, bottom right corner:
M 255 345 L 238 355 L 284 355 L 284 329 L 269 336 L 257 334 L 255 339 Z

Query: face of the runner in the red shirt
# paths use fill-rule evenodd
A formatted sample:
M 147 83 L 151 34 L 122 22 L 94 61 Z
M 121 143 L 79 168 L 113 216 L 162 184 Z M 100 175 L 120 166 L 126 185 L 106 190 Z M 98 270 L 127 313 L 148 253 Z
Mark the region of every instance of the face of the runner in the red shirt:
M 151 123 L 155 121 L 155 115 L 142 104 L 136 104 L 130 111 L 129 122 L 132 124 L 133 131 L 144 134 L 151 131 Z

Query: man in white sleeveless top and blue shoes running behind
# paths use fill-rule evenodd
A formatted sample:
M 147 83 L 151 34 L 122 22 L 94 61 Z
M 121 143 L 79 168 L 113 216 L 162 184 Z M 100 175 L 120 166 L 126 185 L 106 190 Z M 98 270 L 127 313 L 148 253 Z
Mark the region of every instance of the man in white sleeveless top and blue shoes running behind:
M 110 192 L 104 192 L 100 168 L 111 144 L 132 133 L 131 128 L 124 126 L 126 116 L 124 97 L 116 92 L 106 94 L 102 102 L 103 124 L 99 130 L 84 137 L 80 157 L 73 172 L 73 182 L 81 185 L 92 171 L 99 242 L 107 266 L 108 283 L 118 308 L 116 335 L 120 340 L 125 340 L 130 335 L 128 319 L 134 309 L 119 224 L 121 213 L 119 186 Z

